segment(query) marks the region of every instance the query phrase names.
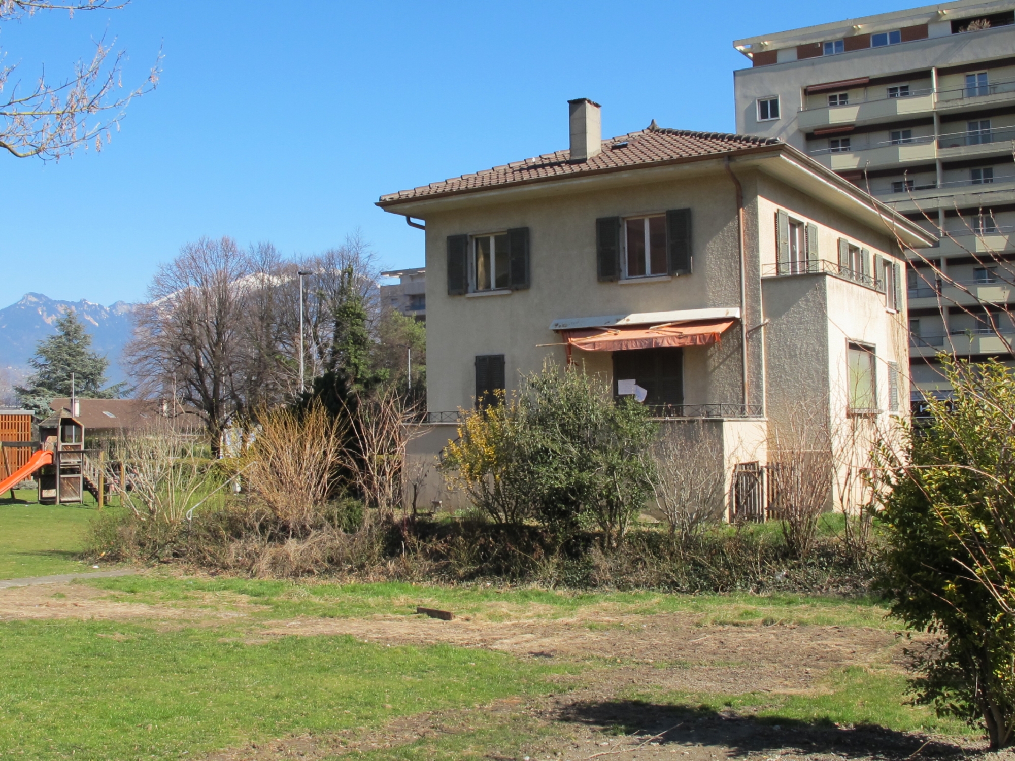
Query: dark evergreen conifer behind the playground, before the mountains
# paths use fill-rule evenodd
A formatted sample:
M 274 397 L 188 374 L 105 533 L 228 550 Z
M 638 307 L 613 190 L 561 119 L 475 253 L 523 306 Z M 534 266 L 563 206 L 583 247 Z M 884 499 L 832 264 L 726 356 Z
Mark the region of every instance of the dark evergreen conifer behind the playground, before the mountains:
M 24 386 L 14 387 L 18 403 L 37 415 L 50 413 L 50 402 L 56 397 L 69 397 L 71 374 L 74 392 L 86 399 L 117 399 L 127 385 L 120 383 L 103 389 L 110 360 L 91 350 L 91 336 L 70 309 L 57 320 L 57 335 L 39 342 L 36 354 L 28 360 L 35 370 Z

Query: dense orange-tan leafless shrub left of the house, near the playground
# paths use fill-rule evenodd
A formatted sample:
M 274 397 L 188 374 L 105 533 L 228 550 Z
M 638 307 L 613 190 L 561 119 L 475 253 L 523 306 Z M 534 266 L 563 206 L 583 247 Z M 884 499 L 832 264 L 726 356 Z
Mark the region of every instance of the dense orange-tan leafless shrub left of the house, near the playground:
M 279 408 L 261 416 L 257 437 L 243 459 L 244 473 L 290 538 L 317 523 L 331 495 L 341 460 L 340 427 L 321 404 L 301 414 Z

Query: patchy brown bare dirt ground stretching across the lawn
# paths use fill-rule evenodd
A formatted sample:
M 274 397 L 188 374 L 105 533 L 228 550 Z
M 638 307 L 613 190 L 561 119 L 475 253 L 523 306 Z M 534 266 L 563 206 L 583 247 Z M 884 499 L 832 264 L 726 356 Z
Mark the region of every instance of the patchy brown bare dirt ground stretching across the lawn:
M 250 610 L 256 609 L 251 606 Z M 0 620 L 82 618 L 174 621 L 235 620 L 229 610 L 143 605 L 108 598 L 83 584 L 48 584 L 0 590 Z M 252 622 L 253 624 L 253 622 Z M 866 627 L 785 625 L 734 626 L 702 622 L 690 613 L 524 618 L 507 621 L 439 621 L 420 616 L 361 619 L 295 617 L 252 625 L 250 636 L 348 634 L 389 644 L 448 643 L 488 648 L 520 658 L 582 662 L 578 681 L 561 679 L 558 694 L 510 699 L 479 710 L 420 713 L 394 719 L 376 732 L 329 737 L 286 737 L 261 746 L 216 752 L 206 761 L 325 759 L 389 751 L 419 743 L 413 757 L 439 755 L 427 742 L 468 735 L 484 727 L 518 728 L 518 740 L 502 751 L 485 748 L 469 757 L 489 759 L 679 759 L 718 761 L 920 761 L 976 755 L 1015 761 L 1015 754 L 986 754 L 982 744 L 930 738 L 876 728 L 789 723 L 764 724 L 732 711 L 691 710 L 630 699 L 646 690 L 742 694 L 817 694 L 829 670 L 879 665 L 900 668 L 894 634 Z M 441 756 L 447 758 L 449 756 Z M 454 756 L 452 756 L 454 757 Z

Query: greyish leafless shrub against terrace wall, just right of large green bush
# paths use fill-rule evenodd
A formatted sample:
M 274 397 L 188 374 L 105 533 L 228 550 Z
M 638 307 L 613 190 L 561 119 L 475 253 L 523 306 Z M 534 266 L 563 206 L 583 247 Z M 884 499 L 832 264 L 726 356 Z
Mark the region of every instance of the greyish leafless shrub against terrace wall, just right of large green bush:
M 725 506 L 722 455 L 708 457 L 703 424 L 695 421 L 664 429 L 655 447 L 656 505 L 666 516 L 670 535 L 686 548 L 704 526 L 718 520 Z

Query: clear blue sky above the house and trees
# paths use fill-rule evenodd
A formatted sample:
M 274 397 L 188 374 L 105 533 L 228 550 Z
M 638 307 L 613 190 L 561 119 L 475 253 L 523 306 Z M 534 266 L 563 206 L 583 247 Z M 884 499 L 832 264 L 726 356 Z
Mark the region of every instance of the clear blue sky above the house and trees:
M 297 255 L 358 228 L 385 266 L 420 266 L 382 193 L 566 147 L 573 97 L 603 105 L 604 135 L 733 131 L 733 40 L 916 4 L 134 0 L 7 23 L 25 81 L 104 33 L 125 84 L 164 59 L 100 154 L 0 155 L 0 306 L 141 299 L 202 235 Z

